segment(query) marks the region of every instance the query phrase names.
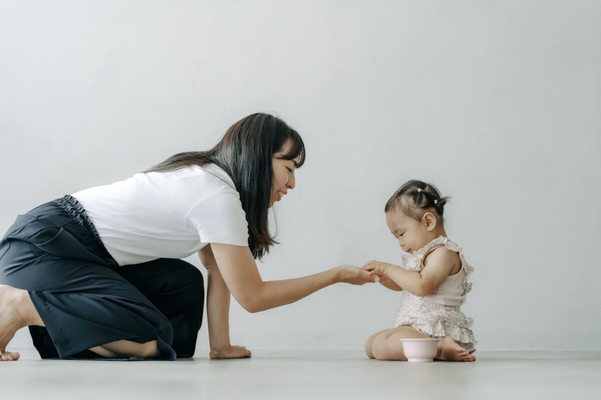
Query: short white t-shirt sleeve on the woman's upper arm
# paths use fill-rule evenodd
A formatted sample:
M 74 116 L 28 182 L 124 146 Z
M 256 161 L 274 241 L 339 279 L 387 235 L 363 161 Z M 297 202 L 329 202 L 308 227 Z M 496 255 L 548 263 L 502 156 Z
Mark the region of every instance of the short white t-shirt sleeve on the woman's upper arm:
M 196 203 L 186 214 L 203 243 L 248 246 L 248 222 L 235 190 L 222 190 Z

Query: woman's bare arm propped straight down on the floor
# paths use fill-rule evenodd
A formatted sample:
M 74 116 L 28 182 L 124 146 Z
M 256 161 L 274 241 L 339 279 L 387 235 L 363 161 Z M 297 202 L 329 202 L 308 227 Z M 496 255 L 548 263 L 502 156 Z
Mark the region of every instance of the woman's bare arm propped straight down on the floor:
M 209 356 L 212 359 L 246 358 L 251 352 L 242 346 L 230 344 L 230 290 L 219 272 L 211 246 L 198 251 L 201 263 L 207 269 L 207 323 L 209 324 Z

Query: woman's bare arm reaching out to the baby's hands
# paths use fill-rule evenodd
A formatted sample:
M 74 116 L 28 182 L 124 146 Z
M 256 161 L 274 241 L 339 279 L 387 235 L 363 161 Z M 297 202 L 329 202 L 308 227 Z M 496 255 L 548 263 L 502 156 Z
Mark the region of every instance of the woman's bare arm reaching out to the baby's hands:
M 341 265 L 302 278 L 263 282 L 248 247 L 211 243 L 211 248 L 225 284 L 237 302 L 249 312 L 296 302 L 337 282 L 362 285 L 374 281 L 367 271 L 359 267 Z

